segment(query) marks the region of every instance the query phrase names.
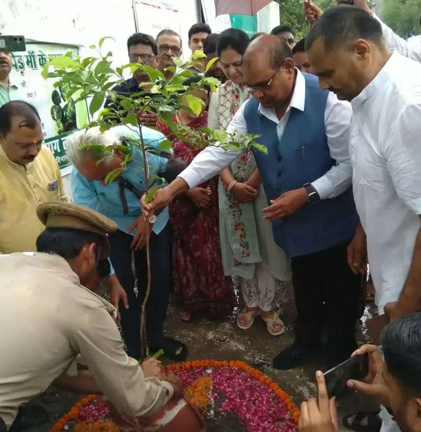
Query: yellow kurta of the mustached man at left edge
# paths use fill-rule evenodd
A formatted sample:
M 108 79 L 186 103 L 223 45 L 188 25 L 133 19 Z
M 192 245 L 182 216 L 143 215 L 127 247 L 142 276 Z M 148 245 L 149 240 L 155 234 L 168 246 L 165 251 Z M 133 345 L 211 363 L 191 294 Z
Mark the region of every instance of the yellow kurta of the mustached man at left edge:
M 51 151 L 42 145 L 35 160 L 22 166 L 0 145 L 0 253 L 36 250 L 44 231 L 36 209 L 46 201 L 68 201 Z

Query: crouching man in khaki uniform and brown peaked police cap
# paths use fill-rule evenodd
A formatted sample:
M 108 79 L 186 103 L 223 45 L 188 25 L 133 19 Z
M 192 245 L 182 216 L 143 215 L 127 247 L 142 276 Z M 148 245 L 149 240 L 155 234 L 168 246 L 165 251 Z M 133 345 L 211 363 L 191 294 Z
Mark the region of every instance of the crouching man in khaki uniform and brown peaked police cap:
M 107 234 L 117 225 L 85 207 L 45 202 L 37 252 L 0 256 L 0 430 L 19 406 L 49 385 L 104 393 L 123 414 L 149 416 L 181 391 L 161 363 L 139 363 L 123 349 L 111 303 L 94 293 L 110 265 Z M 16 316 L 21 319 L 16 320 Z M 88 371 L 77 371 L 82 355 Z M 63 372 L 64 371 L 64 372 Z

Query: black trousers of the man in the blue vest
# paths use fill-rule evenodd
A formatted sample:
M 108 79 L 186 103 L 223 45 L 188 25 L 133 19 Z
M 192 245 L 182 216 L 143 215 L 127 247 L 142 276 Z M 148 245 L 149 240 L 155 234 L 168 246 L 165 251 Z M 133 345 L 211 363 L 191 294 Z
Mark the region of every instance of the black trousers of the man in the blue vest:
M 348 357 L 357 346 L 355 318 L 361 295 L 361 276 L 355 275 L 348 265 L 348 244 L 291 259 L 298 313 L 296 343 L 319 346 L 323 326 L 327 324 L 330 358 L 338 361 Z

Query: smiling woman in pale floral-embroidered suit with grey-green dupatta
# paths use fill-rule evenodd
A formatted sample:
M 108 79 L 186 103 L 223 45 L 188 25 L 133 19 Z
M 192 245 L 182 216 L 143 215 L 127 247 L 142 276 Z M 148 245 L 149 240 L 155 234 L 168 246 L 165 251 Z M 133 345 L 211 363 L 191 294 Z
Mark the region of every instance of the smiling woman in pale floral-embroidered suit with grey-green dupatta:
M 228 29 L 220 34 L 218 56 L 228 81 L 212 94 L 208 127 L 225 131 L 250 91 L 242 86 L 241 60 L 249 43 L 247 34 Z M 258 315 L 273 336 L 284 333 L 274 311 L 278 280 L 290 279 L 290 263 L 273 239 L 270 222 L 263 220 L 267 200 L 253 152 L 239 156 L 220 173 L 219 235 L 224 273 L 239 276 L 245 308 L 237 325 L 250 328 Z

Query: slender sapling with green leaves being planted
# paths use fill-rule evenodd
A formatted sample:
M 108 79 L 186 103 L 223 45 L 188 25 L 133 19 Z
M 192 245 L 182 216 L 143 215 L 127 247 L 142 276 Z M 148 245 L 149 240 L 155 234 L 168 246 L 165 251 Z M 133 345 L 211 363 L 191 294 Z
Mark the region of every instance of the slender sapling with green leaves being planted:
M 200 128 L 192 130 L 186 125 L 172 121 L 172 117 L 179 110 L 190 110 L 199 116 L 204 109 L 204 102 L 201 98 L 191 94 L 194 88 L 210 88 L 216 91 L 220 85 L 219 81 L 213 77 L 207 77 L 206 72 L 217 59 L 212 59 L 206 66 L 204 76 L 199 82 L 186 85 L 189 78 L 194 77 L 190 70 L 194 66 L 200 66 L 199 59 L 206 57 L 203 51 L 196 51 L 191 59 L 184 61 L 175 57 L 175 66 L 170 66 L 166 71 L 172 73 L 172 77 L 165 79 L 164 74 L 150 66 L 139 63 L 128 63 L 123 66 L 112 66 L 112 53 L 102 52 L 104 40 L 112 39 L 105 36 L 100 39 L 98 46 L 91 45 L 90 48 L 96 49 L 96 56 L 81 58 L 73 52 L 68 52 L 64 56 L 52 58 L 48 61 L 42 70 L 43 78 L 55 78 L 57 81 L 54 87 L 66 85 L 66 99 L 72 97 L 75 103 L 78 101 L 89 101 L 89 113 L 96 118 L 83 126 L 83 129 L 98 127 L 101 133 L 108 131 L 113 126 L 125 124 L 127 126 L 127 135 L 129 144 L 117 144 L 120 150 L 125 154 L 121 166 L 108 173 L 105 178 L 106 183 L 113 182 L 125 170 L 127 165 L 133 161 L 133 148 L 139 148 L 142 154 L 142 161 L 139 162 L 144 171 L 144 185 L 146 201 L 150 201 L 158 188 L 165 185 L 165 180 L 157 174 L 150 175 L 150 166 L 148 166 L 147 155 L 159 155 L 161 151 L 172 153 L 172 142 L 168 139 L 160 140 L 159 146 L 145 143 L 142 129 L 145 126 L 139 123 L 138 118 L 144 112 L 155 112 L 162 122 L 167 124 L 171 134 L 182 138 L 192 146 L 192 149 L 201 149 L 208 145 L 218 146 L 224 150 L 236 149 L 247 151 L 251 147 L 267 153 L 265 146 L 255 142 L 258 135 L 238 136 L 235 133 L 229 134 L 224 131 L 210 130 Z M 125 79 L 123 74 L 126 70 L 134 73 L 137 69 L 142 69 L 147 73 L 150 81 L 140 83 L 138 91 L 127 95 L 117 94 L 113 88 L 121 84 Z M 108 108 L 102 109 L 104 101 L 109 99 L 111 104 Z M 114 146 L 102 144 L 85 145 L 85 149 L 90 150 L 92 154 L 101 156 L 98 163 L 102 163 L 104 155 L 112 154 Z M 154 157 L 154 156 L 153 156 Z M 151 157 L 150 157 L 151 160 Z M 154 182 L 153 186 L 151 181 Z M 152 221 L 149 221 L 151 223 Z M 146 259 L 147 259 L 147 287 L 142 304 L 141 312 L 141 349 L 142 357 L 148 355 L 146 345 L 146 304 L 151 291 L 151 263 L 150 263 L 150 246 L 149 238 L 146 237 Z

